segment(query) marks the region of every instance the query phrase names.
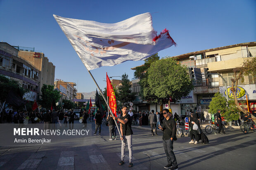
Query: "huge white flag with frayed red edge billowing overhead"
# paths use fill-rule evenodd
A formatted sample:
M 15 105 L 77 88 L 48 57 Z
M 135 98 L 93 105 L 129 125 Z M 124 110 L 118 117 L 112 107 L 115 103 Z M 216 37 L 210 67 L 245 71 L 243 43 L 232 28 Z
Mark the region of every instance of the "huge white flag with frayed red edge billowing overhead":
M 53 16 L 87 70 L 144 60 L 175 44 L 168 30 L 156 35 L 149 13 L 119 23 Z

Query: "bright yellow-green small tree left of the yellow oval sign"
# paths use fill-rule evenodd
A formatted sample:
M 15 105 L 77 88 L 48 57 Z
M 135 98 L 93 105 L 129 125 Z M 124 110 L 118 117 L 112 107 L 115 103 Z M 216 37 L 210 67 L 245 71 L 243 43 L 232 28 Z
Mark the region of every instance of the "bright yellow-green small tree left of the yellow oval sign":
M 220 94 L 215 93 L 214 97 L 211 99 L 210 105 L 209 105 L 209 113 L 216 114 L 218 109 L 221 110 L 221 112 L 226 110 L 226 98 Z

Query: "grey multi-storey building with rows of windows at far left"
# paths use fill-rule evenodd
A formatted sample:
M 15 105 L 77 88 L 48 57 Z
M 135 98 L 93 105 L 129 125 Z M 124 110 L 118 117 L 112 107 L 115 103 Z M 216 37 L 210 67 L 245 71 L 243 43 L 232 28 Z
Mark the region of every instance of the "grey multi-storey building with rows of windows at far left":
M 0 42 L 0 75 L 15 80 L 29 89 L 23 98 L 37 100 L 40 92 L 40 70 L 18 55 L 19 50 L 6 42 Z

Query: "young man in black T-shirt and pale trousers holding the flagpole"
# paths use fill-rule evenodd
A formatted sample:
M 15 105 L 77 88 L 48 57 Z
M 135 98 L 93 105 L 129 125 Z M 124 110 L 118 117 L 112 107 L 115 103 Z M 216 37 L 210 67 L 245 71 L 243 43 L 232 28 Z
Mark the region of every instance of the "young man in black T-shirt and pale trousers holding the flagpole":
M 128 145 L 128 150 L 129 150 L 129 166 L 128 167 L 133 167 L 133 148 L 132 148 L 132 135 L 133 135 L 133 130 L 131 127 L 131 118 L 130 115 L 127 114 L 128 107 L 123 106 L 122 107 L 122 112 L 123 114 L 120 116 L 120 118 L 113 117 L 114 120 L 117 120 L 120 122 L 120 131 L 121 131 L 121 141 L 122 141 L 122 147 L 121 147 L 121 161 L 119 162 L 119 165 L 124 164 L 124 152 L 126 149 L 126 142 Z

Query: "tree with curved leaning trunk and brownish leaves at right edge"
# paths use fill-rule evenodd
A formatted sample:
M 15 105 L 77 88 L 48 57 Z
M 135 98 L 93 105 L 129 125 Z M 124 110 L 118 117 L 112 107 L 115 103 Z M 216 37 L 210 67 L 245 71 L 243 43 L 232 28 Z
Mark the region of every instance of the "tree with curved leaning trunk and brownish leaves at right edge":
M 233 69 L 233 71 L 235 73 L 234 74 L 235 78 L 231 79 L 231 81 L 232 81 L 231 91 L 232 91 L 233 96 L 234 96 L 235 105 L 243 113 L 247 113 L 247 110 L 242 108 L 239 105 L 239 102 L 237 100 L 237 95 L 236 95 L 237 84 L 239 82 L 239 79 L 242 79 L 242 81 L 243 81 L 243 76 L 244 75 L 249 75 L 249 74 L 252 74 L 252 77 L 254 77 L 254 81 L 255 81 L 255 79 L 256 79 L 256 67 L 255 67 L 255 65 L 256 65 L 256 57 L 250 57 L 250 58 L 247 58 L 247 60 L 241 65 L 241 67 Z M 248 112 L 249 112 L 249 110 L 248 110 Z M 254 120 L 254 122 L 256 122 L 256 117 L 253 114 L 251 114 L 251 117 Z

